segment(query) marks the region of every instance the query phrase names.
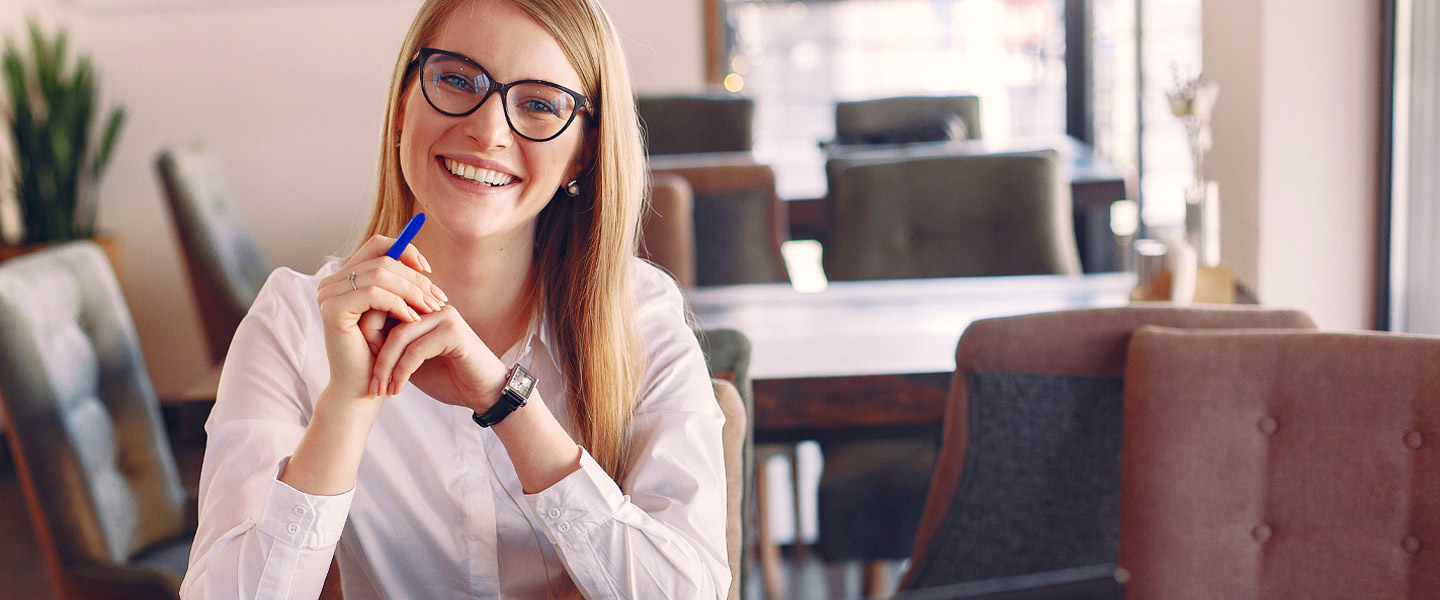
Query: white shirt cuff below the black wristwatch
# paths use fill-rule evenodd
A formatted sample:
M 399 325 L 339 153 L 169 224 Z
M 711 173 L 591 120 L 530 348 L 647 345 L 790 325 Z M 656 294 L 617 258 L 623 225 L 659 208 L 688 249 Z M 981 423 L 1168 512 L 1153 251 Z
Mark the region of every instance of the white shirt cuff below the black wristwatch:
M 540 517 L 546 538 L 562 545 L 586 537 L 590 529 L 609 521 L 625 504 L 625 495 L 590 452 L 582 447 L 579 471 L 539 494 L 527 494 L 526 501 Z

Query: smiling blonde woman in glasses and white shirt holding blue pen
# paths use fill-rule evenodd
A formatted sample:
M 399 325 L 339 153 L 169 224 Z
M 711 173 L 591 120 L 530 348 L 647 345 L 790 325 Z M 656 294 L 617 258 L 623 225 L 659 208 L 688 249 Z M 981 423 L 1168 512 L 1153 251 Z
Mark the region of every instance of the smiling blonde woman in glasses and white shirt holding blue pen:
M 350 599 L 721 597 L 723 417 L 678 289 L 634 258 L 608 17 L 426 1 L 383 140 L 369 240 L 276 271 L 236 331 L 181 596 L 315 597 L 334 555 Z

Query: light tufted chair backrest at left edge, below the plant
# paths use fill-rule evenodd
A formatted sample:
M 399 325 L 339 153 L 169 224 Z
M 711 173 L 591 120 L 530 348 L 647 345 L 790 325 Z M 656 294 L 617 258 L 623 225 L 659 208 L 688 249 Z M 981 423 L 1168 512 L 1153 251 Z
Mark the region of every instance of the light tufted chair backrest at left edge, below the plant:
M 0 263 L 0 404 L 58 586 L 65 570 L 125 564 L 187 534 L 156 390 L 99 247 Z

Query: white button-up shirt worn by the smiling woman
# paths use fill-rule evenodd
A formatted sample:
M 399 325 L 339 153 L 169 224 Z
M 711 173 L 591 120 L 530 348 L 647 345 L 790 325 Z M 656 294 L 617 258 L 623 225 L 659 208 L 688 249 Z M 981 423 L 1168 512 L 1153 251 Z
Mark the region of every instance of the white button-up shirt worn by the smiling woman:
M 724 597 L 724 417 L 670 278 L 634 260 L 647 371 L 619 485 L 582 452 L 579 471 L 526 495 L 492 430 L 406 386 L 384 401 L 354 489 L 317 496 L 276 478 L 330 380 L 315 289 L 338 268 L 276 269 L 235 334 L 181 597 L 314 599 L 333 555 L 347 600 Z M 536 374 L 579 439 L 546 324 L 501 358 Z

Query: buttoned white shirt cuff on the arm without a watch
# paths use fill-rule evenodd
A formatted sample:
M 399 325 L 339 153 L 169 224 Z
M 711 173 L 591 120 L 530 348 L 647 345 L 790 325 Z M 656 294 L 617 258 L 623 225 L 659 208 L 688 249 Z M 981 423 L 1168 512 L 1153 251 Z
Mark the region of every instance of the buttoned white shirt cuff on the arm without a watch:
M 284 469 L 282 463 L 281 471 Z M 307 550 L 328 548 L 340 541 L 340 534 L 346 529 L 354 494 L 351 488 L 337 496 L 310 495 L 279 481 L 276 472 L 256 527 L 284 544 Z

